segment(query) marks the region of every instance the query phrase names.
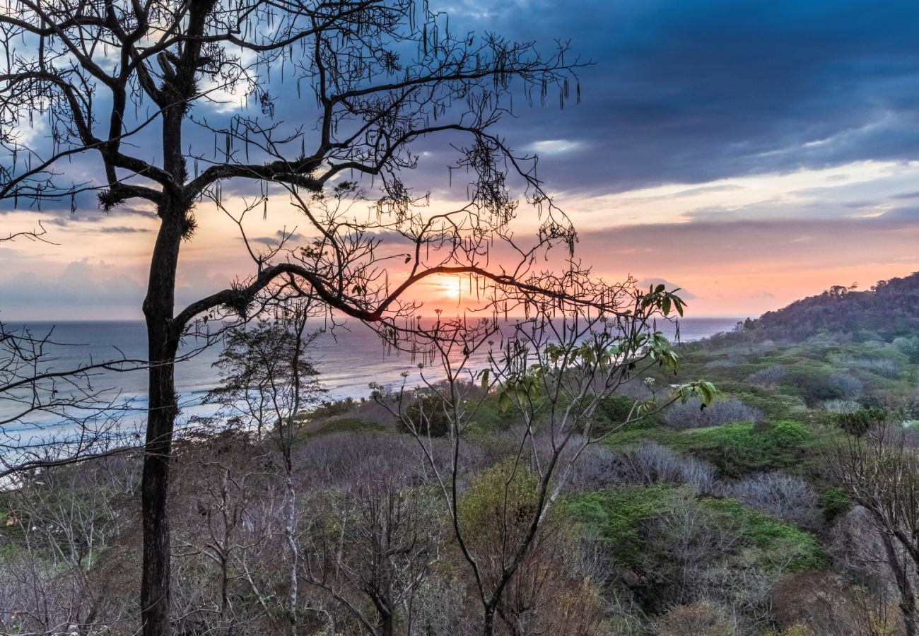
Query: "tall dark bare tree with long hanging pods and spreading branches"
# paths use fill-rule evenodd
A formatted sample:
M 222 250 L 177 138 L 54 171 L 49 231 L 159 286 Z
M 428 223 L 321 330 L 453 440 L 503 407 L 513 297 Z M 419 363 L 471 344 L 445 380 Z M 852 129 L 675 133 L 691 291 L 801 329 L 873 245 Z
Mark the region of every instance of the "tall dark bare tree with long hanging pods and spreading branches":
M 535 253 L 512 244 L 506 232 L 518 204 L 509 177 L 518 176 L 542 210 L 537 243 L 572 244 L 573 231 L 542 191 L 535 164 L 512 153 L 493 129 L 512 108 L 514 85 L 529 101 L 544 101 L 550 89 L 562 104 L 579 97 L 572 73 L 579 62 L 566 58 L 563 44 L 543 58 L 531 43 L 451 31 L 447 16 L 410 0 L 15 0 L 0 29 L 0 142 L 12 159 L 2 168 L 0 197 L 14 205 L 62 199 L 75 207 L 95 192 L 103 210 L 130 201 L 159 219 L 143 302 L 150 380 L 141 606 L 144 633 L 163 636 L 174 367 L 188 325 L 209 312 L 246 313 L 257 293 L 277 284 L 370 322 L 410 313 L 407 290 L 437 274 L 473 273 L 498 286 L 537 290 L 538 281 L 528 282 Z M 271 93 L 282 80 L 288 95 L 305 92 L 314 126 L 299 123 L 302 108 L 298 123 L 275 117 Z M 253 108 L 221 121 L 196 110 L 228 95 L 244 96 Z M 29 142 L 19 131 L 36 116 L 47 131 Z M 208 141 L 187 134 L 191 126 Z M 417 164 L 414 142 L 435 134 L 449 135 L 459 148 L 456 166 L 473 176 L 470 202 L 421 214 L 425 194 L 399 175 Z M 66 166 L 81 153 L 99 160 L 98 178 L 74 183 Z M 361 220 L 347 206 L 317 210 L 317 199 L 359 198 L 353 182 L 338 181 L 329 191 L 352 173 L 375 177 L 375 211 Z M 241 209 L 223 208 L 229 180 L 250 195 Z M 176 312 L 178 256 L 195 231 L 196 205 L 208 199 L 240 221 L 244 210 L 267 210 L 272 194 L 300 208 L 315 242 L 274 258 L 252 252 L 254 278 Z M 380 236 L 391 234 L 409 249 L 381 251 Z M 511 245 L 519 265 L 488 267 L 494 238 Z M 405 269 L 390 281 L 386 266 L 396 262 Z

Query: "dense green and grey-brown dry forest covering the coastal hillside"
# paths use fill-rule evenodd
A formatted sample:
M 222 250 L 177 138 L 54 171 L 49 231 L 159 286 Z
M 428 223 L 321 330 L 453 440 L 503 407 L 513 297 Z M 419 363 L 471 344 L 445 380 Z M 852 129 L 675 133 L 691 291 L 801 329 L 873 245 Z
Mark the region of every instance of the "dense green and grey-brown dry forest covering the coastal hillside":
M 916 275 L 869 292 L 834 288 L 681 346 L 676 376 L 655 368 L 623 385 L 594 414 L 608 435 L 584 452 L 539 529 L 497 632 L 911 633 L 902 591 L 915 588 L 917 572 L 907 544 L 891 539 L 909 529 L 909 515 L 883 511 L 914 511 L 919 487 L 896 499 L 896 488 L 868 492 L 858 471 L 841 469 L 861 461 L 882 480 L 892 466 L 898 484 L 919 483 L 911 306 Z M 617 426 L 636 401 L 660 401 L 696 377 L 720 389 L 709 408 L 690 399 Z M 428 393 L 411 408 L 432 404 Z M 417 440 L 384 406 L 348 400 L 301 416 L 292 535 L 266 439 L 229 430 L 182 442 L 171 498 L 176 633 L 287 632 L 289 536 L 305 608 L 298 633 L 475 632 L 475 582 L 461 551 L 484 555 L 484 579 L 501 575 L 494 564 L 537 505 L 536 473 L 508 463 L 517 437 L 500 396 L 486 393 L 461 448 L 456 524 L 470 545 L 460 545 Z M 430 413 L 433 457 L 447 462 L 451 447 L 437 436 L 448 426 Z M 858 454 L 874 440 L 886 453 L 879 463 Z M 137 461 L 41 471 L 20 486 L 0 494 L 0 631 L 136 630 L 135 600 L 119 590 L 136 585 Z M 888 499 L 874 506 L 877 497 Z

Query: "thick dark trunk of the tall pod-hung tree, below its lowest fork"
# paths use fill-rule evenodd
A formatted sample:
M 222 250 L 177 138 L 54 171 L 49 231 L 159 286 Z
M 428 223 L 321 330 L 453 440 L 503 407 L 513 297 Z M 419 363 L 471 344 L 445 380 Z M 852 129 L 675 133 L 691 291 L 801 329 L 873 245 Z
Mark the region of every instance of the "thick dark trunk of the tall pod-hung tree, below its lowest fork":
M 141 619 L 143 636 L 168 636 L 170 537 L 167 502 L 173 429 L 178 415 L 175 363 L 178 337 L 173 328 L 176 267 L 186 210 L 164 207 L 143 313 L 150 363 L 147 436 L 144 444 L 141 508 L 143 565 Z

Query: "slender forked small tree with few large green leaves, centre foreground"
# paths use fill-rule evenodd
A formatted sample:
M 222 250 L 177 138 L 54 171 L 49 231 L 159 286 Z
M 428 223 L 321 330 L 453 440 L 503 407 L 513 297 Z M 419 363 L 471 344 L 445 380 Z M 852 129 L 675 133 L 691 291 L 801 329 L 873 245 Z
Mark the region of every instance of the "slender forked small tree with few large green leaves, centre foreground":
M 679 358 L 664 335 L 652 329 L 652 322 L 655 316 L 666 318 L 674 309 L 682 313 L 682 301 L 663 285 L 644 292 L 635 288 L 634 281 L 615 288 L 589 279 L 582 284 L 577 297 L 526 304 L 528 320 L 515 324 L 506 334 L 488 320 L 475 328 L 462 322 L 419 327 L 417 337 L 426 338 L 436 348 L 439 370 L 447 380 L 426 380 L 423 370 L 425 387 L 413 392 L 403 385 L 391 396 L 375 387 L 375 398 L 414 436 L 425 467 L 433 473 L 474 581 L 484 636 L 494 636 L 508 603 L 513 603 L 508 595 L 514 596 L 524 585 L 521 577 L 528 577 L 528 557 L 538 550 L 553 509 L 584 451 L 670 403 L 698 398 L 708 404 L 717 393 L 706 381 L 676 386 L 664 403 L 635 403 L 618 426 L 605 422 L 607 426 L 598 428 L 601 404 L 623 384 L 641 379 L 653 366 L 675 369 Z M 605 299 L 604 309 L 609 313 L 594 313 L 593 303 L 585 300 L 594 298 L 592 294 Z M 494 346 L 493 338 L 500 339 L 503 346 Z M 486 346 L 490 347 L 489 368 L 472 369 L 471 354 Z M 455 349 L 460 347 L 458 356 Z M 513 423 L 512 451 L 506 473 L 493 484 L 496 490 L 484 491 L 490 494 L 482 505 L 494 508 L 492 518 L 497 521 L 496 536 L 482 545 L 479 539 L 485 529 L 471 520 L 474 515 L 469 508 L 476 500 L 466 499 L 463 504 L 459 479 L 466 470 L 462 449 L 489 393 L 497 394 L 506 419 Z M 439 430 L 417 408 L 419 398 L 432 396 L 438 413 L 446 419 L 439 426 L 447 429 L 446 457 L 434 439 Z

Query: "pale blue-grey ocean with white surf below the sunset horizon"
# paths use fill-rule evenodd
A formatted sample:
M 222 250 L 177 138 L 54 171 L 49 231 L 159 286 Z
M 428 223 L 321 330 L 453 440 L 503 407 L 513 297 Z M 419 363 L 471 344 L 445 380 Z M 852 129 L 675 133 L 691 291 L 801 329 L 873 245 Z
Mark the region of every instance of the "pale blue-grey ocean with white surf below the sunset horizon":
M 736 318 L 686 318 L 680 321 L 680 337 L 684 342 L 698 340 L 709 335 L 731 330 L 737 323 Z M 60 345 L 51 347 L 51 369 L 73 369 L 87 360 L 102 361 L 111 358 L 138 358 L 146 356 L 146 329 L 142 321 L 110 322 L 62 322 L 7 324 L 8 330 L 28 326 L 33 335 L 42 335 L 52 331 L 52 339 Z M 323 327 L 322 322 L 311 325 L 315 329 Z M 671 332 L 673 325 L 661 326 L 664 333 Z M 191 341 L 185 350 L 194 347 Z M 182 414 L 179 426 L 192 416 L 212 415 L 213 407 L 202 404 L 202 398 L 214 388 L 219 376 L 212 367 L 220 353 L 219 346 L 211 346 L 197 356 L 181 361 L 176 365 L 176 390 L 180 394 Z M 485 366 L 484 353 L 477 354 L 471 367 Z M 384 386 L 398 387 L 405 381 L 409 386 L 421 382 L 417 360 L 406 353 L 388 349 L 380 337 L 364 324 L 348 323 L 336 327 L 334 332 L 319 335 L 311 349 L 311 358 L 320 372 L 319 380 L 326 391 L 325 399 L 340 400 L 347 397 L 359 399 L 369 396 L 369 382 Z M 478 363 L 478 366 L 477 366 Z M 407 377 L 403 378 L 403 373 Z M 428 377 L 436 378 L 437 369 L 425 371 Z M 119 401 L 130 404 L 126 416 L 128 426 L 142 423 L 146 412 L 147 376 L 143 370 L 124 372 L 102 371 L 93 378 L 96 390 L 103 390 L 108 397 L 118 396 Z M 11 413 L 12 404 L 0 396 L 0 421 Z M 38 414 L 31 417 L 27 425 L 4 426 L 5 437 L 19 435 L 26 441 L 36 434 L 36 425 L 40 426 L 40 436 L 65 434 L 65 423 L 57 422 L 50 414 Z

